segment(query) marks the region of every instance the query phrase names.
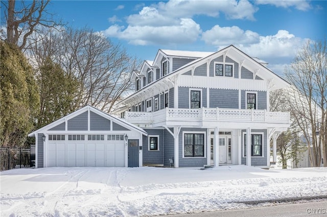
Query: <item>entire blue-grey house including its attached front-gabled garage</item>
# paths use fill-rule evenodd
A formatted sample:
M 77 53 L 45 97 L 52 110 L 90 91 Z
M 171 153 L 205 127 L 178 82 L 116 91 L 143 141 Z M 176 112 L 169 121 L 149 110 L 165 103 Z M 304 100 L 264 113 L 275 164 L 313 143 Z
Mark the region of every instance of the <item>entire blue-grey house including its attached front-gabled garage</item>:
M 88 105 L 30 133 L 36 167 L 269 168 L 270 138 L 276 161 L 290 116 L 269 111 L 269 92 L 289 84 L 259 59 L 232 45 L 159 49 L 131 79 L 135 93 L 115 111 L 121 119 Z

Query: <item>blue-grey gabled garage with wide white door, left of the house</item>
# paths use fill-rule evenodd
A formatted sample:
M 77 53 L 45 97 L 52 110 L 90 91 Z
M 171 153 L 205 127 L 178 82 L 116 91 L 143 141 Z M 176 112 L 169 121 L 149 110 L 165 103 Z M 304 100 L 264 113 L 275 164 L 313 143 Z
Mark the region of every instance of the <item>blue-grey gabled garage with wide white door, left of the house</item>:
M 139 167 L 143 135 L 142 128 L 89 105 L 29 134 L 36 138 L 36 167 Z M 138 151 L 129 150 L 131 141 Z

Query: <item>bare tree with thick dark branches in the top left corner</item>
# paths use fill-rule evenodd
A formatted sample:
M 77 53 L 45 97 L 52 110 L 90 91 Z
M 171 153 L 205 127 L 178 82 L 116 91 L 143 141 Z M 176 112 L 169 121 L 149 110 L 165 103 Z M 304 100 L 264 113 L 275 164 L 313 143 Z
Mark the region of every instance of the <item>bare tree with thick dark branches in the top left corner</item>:
M 57 29 L 61 22 L 53 20 L 52 14 L 46 10 L 50 0 L 1 1 L 4 10 L 4 23 L 7 34 L 3 36 L 7 43 L 15 44 L 20 50 L 26 48 L 28 39 L 33 33 L 40 33 L 41 27 Z

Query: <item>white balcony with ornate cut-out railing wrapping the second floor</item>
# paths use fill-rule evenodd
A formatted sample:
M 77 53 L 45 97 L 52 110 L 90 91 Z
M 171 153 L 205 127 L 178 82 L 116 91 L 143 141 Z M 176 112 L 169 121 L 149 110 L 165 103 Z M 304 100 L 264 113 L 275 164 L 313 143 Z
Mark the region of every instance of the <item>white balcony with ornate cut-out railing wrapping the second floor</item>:
M 228 108 L 165 108 L 156 112 L 127 112 L 126 120 L 141 127 L 163 125 L 210 127 L 221 125 L 234 128 L 235 124 L 244 126 L 261 124 L 264 127 L 277 124 L 281 127 L 288 127 L 290 114 L 287 112 Z

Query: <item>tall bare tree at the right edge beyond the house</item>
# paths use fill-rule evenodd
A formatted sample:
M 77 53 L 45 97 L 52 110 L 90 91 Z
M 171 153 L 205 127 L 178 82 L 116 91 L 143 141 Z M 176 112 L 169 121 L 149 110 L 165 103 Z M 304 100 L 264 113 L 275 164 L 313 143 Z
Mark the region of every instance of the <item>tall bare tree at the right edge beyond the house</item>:
M 305 136 L 311 165 L 327 167 L 327 53 L 326 40 L 308 41 L 285 74 L 293 85 L 291 113 Z M 311 140 L 310 140 L 311 137 Z M 310 148 L 312 145 L 312 151 Z M 322 150 L 322 151 L 321 151 Z

